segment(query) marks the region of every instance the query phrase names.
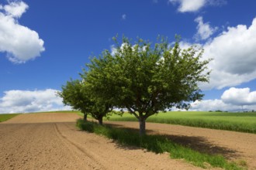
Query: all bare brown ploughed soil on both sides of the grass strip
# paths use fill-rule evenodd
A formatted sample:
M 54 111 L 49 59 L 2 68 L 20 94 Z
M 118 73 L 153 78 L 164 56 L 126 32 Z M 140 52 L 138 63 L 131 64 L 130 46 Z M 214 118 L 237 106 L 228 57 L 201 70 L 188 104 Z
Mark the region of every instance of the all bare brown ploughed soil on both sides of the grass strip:
M 21 114 L 0 124 L 1 169 L 201 169 L 169 154 L 127 148 L 78 131 L 77 114 Z M 105 122 L 137 128 L 137 122 Z M 165 134 L 182 145 L 256 169 L 256 134 L 147 123 L 147 133 Z

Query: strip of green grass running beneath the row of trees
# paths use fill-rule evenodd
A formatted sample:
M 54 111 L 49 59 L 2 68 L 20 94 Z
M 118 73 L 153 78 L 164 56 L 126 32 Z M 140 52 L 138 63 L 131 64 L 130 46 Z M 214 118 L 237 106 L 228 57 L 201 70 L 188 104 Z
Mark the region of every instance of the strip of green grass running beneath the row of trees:
M 211 165 L 211 167 L 220 167 L 225 169 L 242 169 L 234 162 L 227 162 L 222 155 L 207 155 L 200 153 L 199 151 L 192 150 L 191 148 L 178 145 L 161 135 L 140 136 L 137 131 L 123 128 L 112 128 L 111 126 L 106 125 L 100 126 L 93 122 L 84 122 L 82 119 L 78 119 L 76 125 L 81 130 L 101 134 L 106 136 L 106 138 L 111 138 L 114 141 L 117 141 L 120 145 L 146 148 L 147 151 L 154 151 L 155 153 L 168 152 L 170 153 L 171 158 L 183 158 L 187 162 L 191 162 L 193 165 L 202 168 L 207 168 L 207 165 Z

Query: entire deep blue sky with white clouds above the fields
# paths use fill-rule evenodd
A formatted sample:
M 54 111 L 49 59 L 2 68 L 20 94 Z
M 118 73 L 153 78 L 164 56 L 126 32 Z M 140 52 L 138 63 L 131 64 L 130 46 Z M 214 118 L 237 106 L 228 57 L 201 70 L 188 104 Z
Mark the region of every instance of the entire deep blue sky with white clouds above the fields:
M 0 0 L 0 114 L 66 110 L 55 92 L 112 37 L 182 36 L 213 58 L 191 110 L 256 110 L 254 0 Z M 243 106 L 243 107 L 242 107 Z

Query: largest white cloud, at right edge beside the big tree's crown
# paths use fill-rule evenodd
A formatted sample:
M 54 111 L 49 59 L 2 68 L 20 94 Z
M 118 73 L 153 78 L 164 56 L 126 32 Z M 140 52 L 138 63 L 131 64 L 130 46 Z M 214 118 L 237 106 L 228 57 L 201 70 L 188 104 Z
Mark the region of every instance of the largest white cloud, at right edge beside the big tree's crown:
M 204 57 L 212 58 L 210 83 L 203 89 L 234 87 L 256 78 L 256 18 L 251 26 L 229 27 L 202 45 Z

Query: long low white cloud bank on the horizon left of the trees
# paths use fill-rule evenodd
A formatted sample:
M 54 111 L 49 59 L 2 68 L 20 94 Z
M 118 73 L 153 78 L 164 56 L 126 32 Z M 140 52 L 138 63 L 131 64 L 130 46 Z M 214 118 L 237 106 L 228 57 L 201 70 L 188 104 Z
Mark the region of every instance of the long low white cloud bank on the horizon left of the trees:
M 71 110 L 64 107 L 57 90 L 9 90 L 0 98 L 0 113 L 26 113 L 47 110 Z

